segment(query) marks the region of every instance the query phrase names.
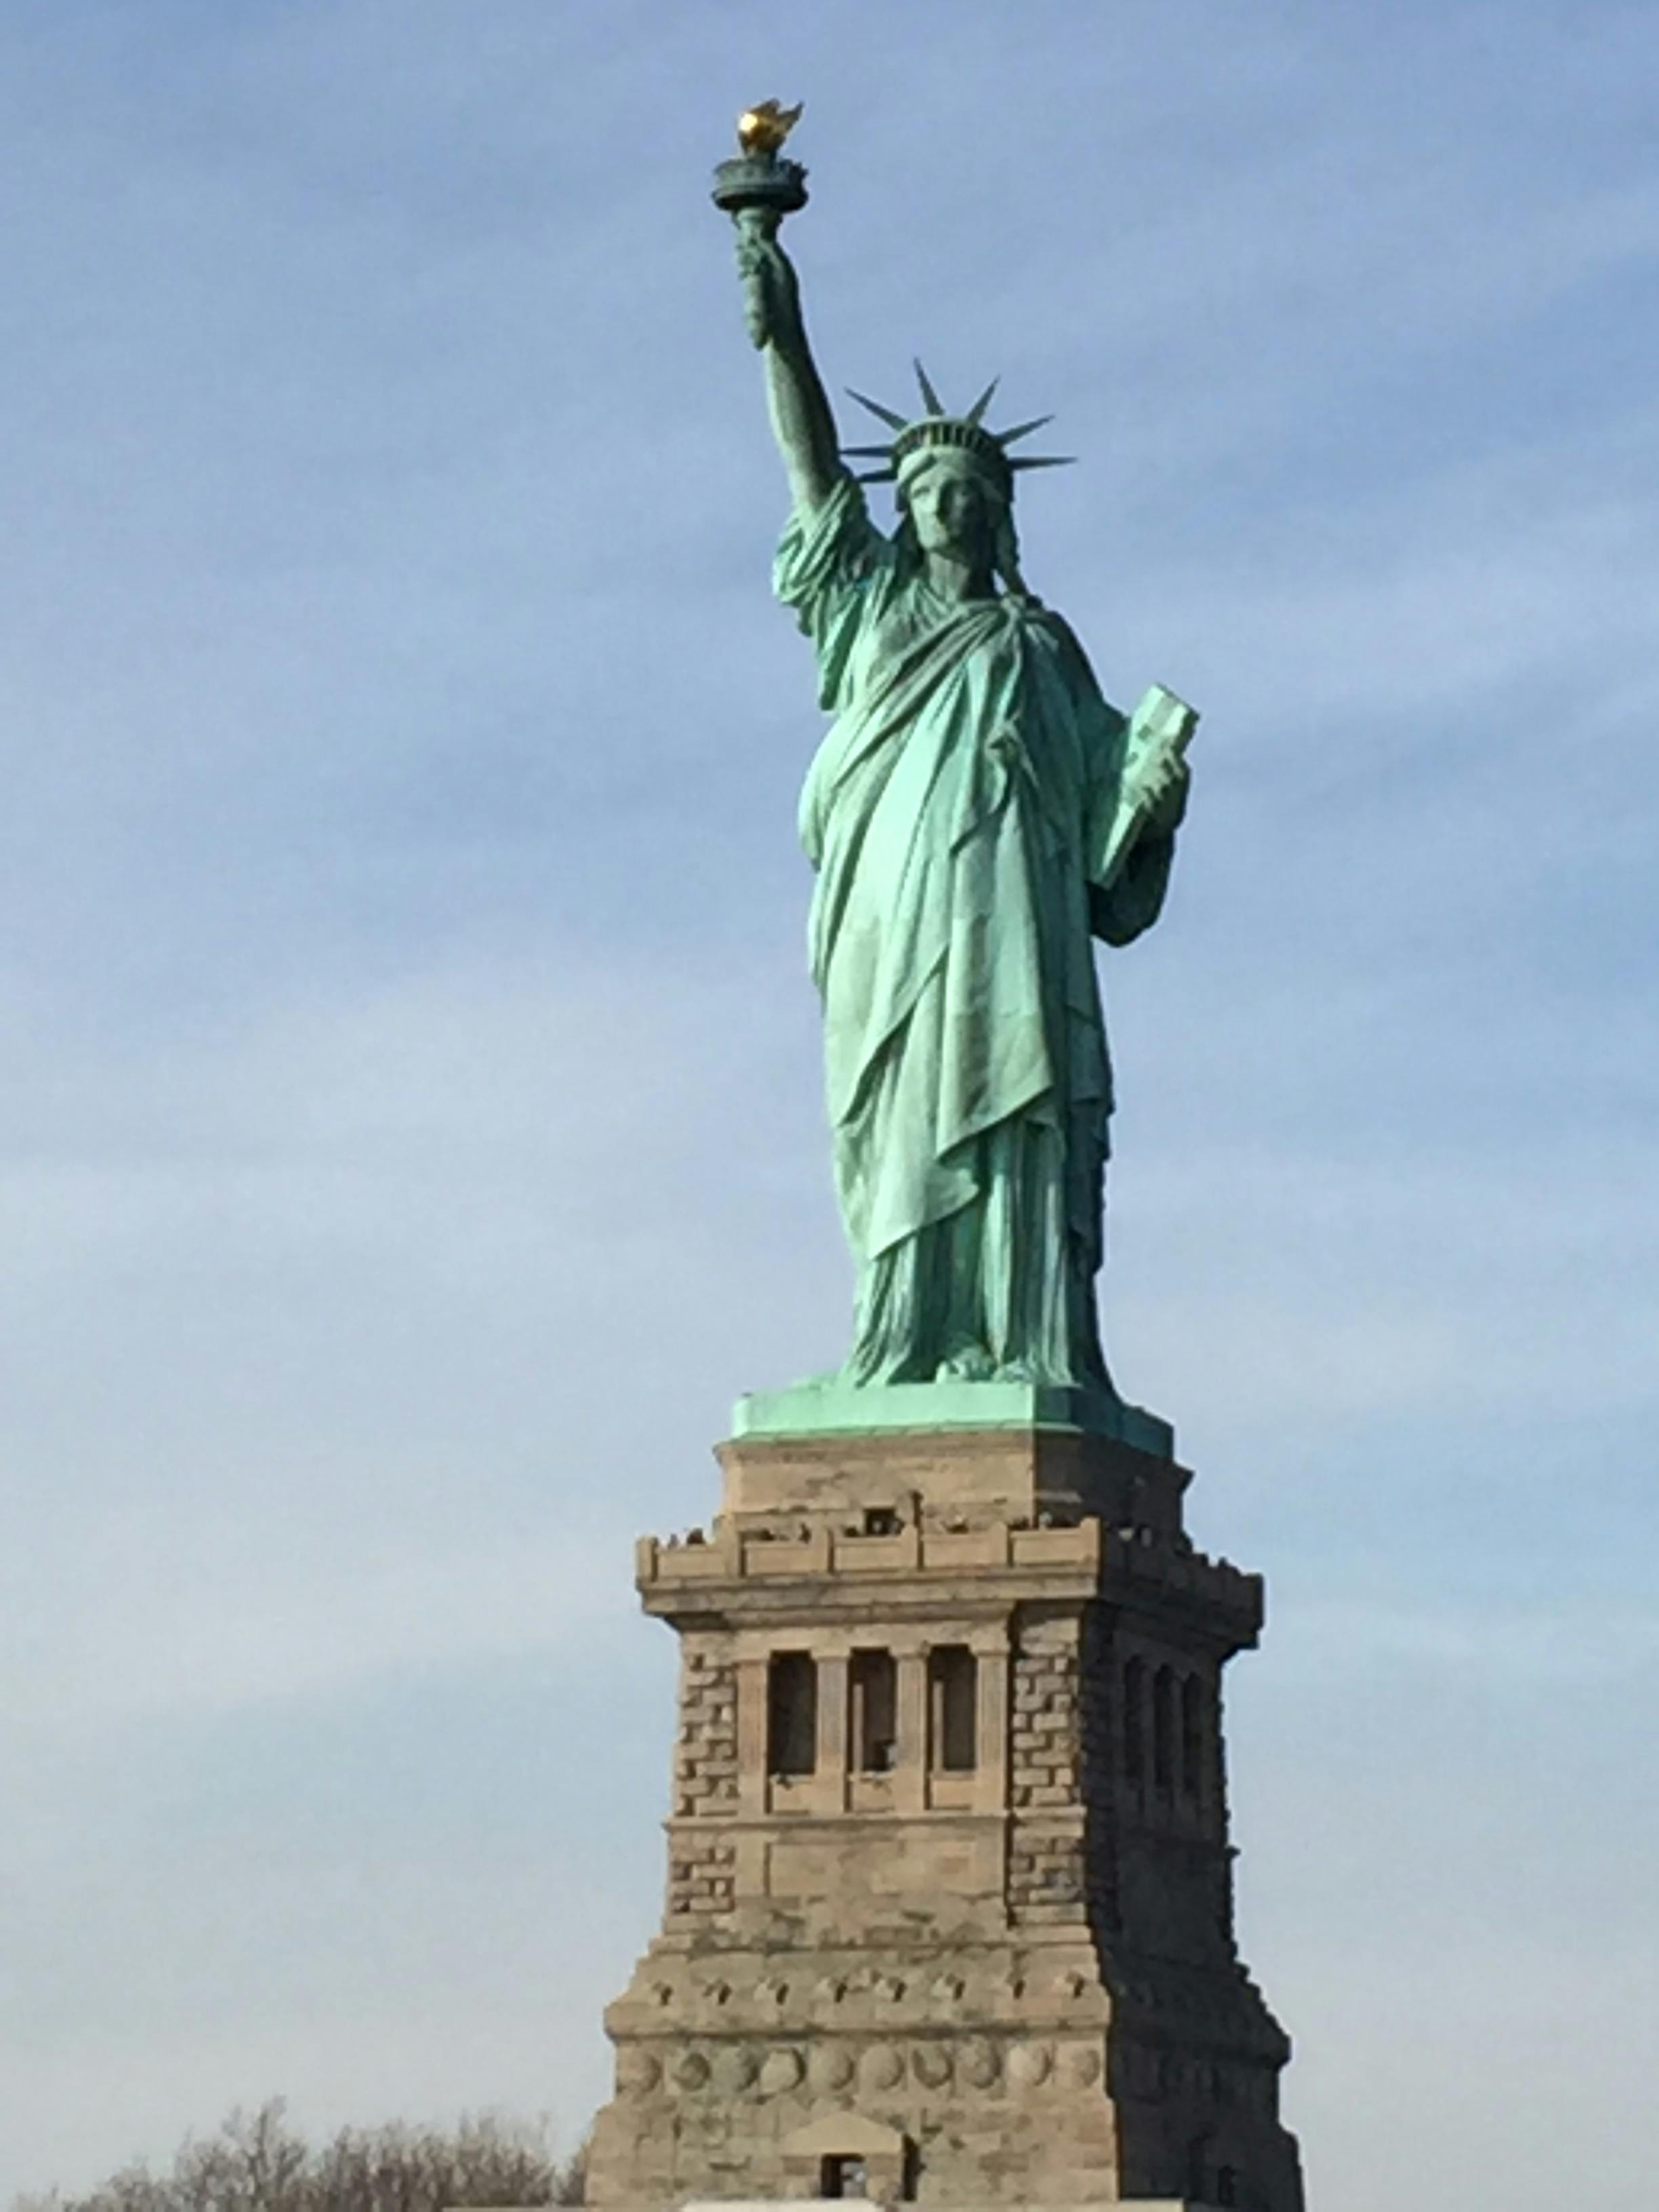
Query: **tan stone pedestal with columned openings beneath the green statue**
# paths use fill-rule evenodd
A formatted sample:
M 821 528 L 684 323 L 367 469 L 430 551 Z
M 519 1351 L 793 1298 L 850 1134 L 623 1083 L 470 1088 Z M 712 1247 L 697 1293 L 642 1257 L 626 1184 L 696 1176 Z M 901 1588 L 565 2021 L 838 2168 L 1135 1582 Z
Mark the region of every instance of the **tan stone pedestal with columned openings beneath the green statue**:
M 668 1909 L 588 2199 L 1301 2212 L 1232 1938 L 1221 1668 L 1261 1582 L 1066 1429 L 743 1438 L 681 1639 Z

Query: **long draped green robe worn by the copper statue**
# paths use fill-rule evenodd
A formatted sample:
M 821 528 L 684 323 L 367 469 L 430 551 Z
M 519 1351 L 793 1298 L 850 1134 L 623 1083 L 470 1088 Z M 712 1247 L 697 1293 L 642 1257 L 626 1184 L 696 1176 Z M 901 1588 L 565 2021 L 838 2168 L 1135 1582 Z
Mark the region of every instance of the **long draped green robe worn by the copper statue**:
M 801 841 L 860 1272 L 847 1376 L 1099 1378 L 1110 1064 L 1091 929 L 1150 925 L 1170 847 L 1091 880 L 1124 717 L 1060 617 L 942 599 L 849 478 L 790 520 L 776 593 L 834 717 Z

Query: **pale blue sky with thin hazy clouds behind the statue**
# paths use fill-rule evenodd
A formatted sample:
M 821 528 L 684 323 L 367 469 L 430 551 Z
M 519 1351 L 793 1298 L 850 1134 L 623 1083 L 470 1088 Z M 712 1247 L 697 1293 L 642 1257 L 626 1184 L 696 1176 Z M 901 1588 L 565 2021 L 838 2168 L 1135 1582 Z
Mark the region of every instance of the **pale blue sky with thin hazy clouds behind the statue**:
M 606 2090 L 732 1396 L 830 1365 L 818 734 L 708 170 L 1206 714 L 1108 1343 L 1318 2212 L 1648 2212 L 1659 13 L 4 0 L 0 2201 Z

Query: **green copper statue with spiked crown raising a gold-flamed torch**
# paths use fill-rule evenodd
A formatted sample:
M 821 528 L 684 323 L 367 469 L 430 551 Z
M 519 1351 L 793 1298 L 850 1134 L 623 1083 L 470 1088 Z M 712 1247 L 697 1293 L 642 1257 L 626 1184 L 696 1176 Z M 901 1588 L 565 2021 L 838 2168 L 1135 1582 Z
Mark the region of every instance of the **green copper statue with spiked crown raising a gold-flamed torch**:
M 1106 703 L 1071 628 L 1020 573 L 1015 471 L 987 392 L 916 420 L 854 478 L 807 347 L 779 221 L 805 173 L 792 115 L 743 117 L 717 173 L 748 327 L 794 495 L 776 593 L 834 717 L 801 796 L 816 869 L 841 1212 L 858 1267 L 843 1385 L 1024 1383 L 1108 1394 L 1095 1316 L 1113 1106 L 1093 940 L 1157 920 L 1194 714 Z M 995 389 L 995 387 L 993 387 Z M 1046 420 L 1046 418 L 1042 418 Z M 891 480 L 898 526 L 860 482 Z

